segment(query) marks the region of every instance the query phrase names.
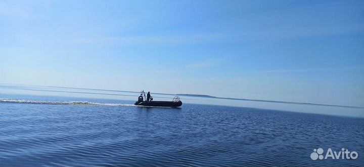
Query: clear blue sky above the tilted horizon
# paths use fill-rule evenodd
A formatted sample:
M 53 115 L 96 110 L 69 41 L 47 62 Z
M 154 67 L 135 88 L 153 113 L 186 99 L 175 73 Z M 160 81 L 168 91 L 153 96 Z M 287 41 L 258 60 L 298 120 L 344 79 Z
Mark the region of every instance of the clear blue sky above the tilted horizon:
M 0 1 L 0 83 L 364 106 L 364 1 Z

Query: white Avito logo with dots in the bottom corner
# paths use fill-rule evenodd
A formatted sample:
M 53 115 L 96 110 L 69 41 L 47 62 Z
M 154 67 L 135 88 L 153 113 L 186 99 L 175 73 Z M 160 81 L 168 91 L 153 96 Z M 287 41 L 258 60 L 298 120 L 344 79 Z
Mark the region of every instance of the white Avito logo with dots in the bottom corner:
M 328 148 L 326 155 L 322 155 L 324 153 L 324 149 L 317 148 L 313 149 L 313 152 L 311 153 L 310 157 L 312 160 L 316 159 L 356 159 L 358 157 L 358 153 L 356 151 L 349 151 L 348 149 L 345 150 L 345 148 L 341 148 L 341 151 L 332 151 L 331 148 Z

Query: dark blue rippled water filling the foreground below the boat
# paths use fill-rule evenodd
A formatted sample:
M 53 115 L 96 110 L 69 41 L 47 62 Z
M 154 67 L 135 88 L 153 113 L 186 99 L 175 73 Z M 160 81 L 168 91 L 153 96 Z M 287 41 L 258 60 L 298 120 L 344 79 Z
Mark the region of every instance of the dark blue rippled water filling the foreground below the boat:
M 364 166 L 363 118 L 17 98 L 37 101 L 0 103 L 0 166 Z M 39 104 L 80 100 L 97 105 Z M 314 148 L 342 147 L 358 152 L 358 158 L 310 158 Z

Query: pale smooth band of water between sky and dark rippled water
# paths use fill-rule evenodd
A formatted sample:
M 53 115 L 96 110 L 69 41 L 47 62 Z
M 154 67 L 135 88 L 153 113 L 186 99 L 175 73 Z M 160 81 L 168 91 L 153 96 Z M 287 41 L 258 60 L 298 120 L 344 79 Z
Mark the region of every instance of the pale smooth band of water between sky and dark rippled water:
M 145 90 L 146 91 L 146 90 Z M 121 91 L 121 90 L 99 90 L 99 89 L 84 89 L 84 88 L 65 88 L 65 87 L 43 87 L 43 86 L 28 86 L 28 85 L 1 85 L 0 84 L 0 102 L 7 102 L 8 100 L 14 103 L 29 103 L 47 104 L 47 103 L 63 103 L 60 102 L 39 102 L 36 99 L 42 97 L 50 97 L 50 99 L 57 99 L 51 97 L 64 97 L 72 98 L 76 102 L 89 102 L 93 103 L 99 99 L 116 100 L 115 105 L 132 105 L 138 98 L 139 92 Z M 156 101 L 172 101 L 174 94 L 158 94 L 151 92 L 154 100 Z M 87 99 L 84 99 L 87 98 Z M 203 104 L 203 105 L 217 105 L 217 106 L 234 106 L 256 109 L 279 110 L 288 112 L 300 112 L 311 114 L 324 114 L 336 116 L 349 116 L 349 117 L 364 117 L 362 106 L 337 106 L 335 104 L 306 104 L 304 102 L 282 102 L 282 101 L 269 101 L 269 100 L 249 100 L 249 99 L 231 99 L 231 98 L 209 98 L 209 97 L 192 97 L 180 96 L 184 104 Z M 35 101 L 34 101 L 35 100 Z M 131 102 L 125 102 L 131 101 Z M 105 104 L 107 105 L 107 104 Z

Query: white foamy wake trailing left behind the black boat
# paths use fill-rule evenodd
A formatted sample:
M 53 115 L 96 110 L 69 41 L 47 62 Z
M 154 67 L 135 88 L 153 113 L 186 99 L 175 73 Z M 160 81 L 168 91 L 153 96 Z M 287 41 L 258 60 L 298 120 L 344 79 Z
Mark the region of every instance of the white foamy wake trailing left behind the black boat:
M 0 103 L 23 103 L 23 104 L 49 104 L 49 105 L 84 105 L 84 106 L 135 106 L 133 104 L 113 104 L 113 103 L 94 103 L 83 101 L 57 102 L 57 101 L 38 101 L 21 99 L 1 99 Z M 138 106 L 135 106 L 138 107 Z

